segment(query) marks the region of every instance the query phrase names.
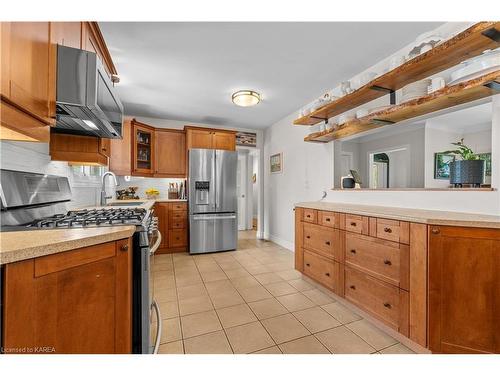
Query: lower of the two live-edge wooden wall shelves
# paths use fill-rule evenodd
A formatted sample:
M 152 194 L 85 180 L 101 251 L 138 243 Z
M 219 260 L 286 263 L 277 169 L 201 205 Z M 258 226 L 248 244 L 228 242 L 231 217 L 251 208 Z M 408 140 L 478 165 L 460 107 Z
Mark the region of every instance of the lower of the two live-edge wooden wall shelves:
M 359 119 L 348 121 L 336 129 L 309 134 L 304 138 L 304 141 L 330 142 L 335 139 L 376 129 L 380 126 L 390 126 L 441 109 L 486 98 L 500 93 L 499 90 L 500 70 L 497 70 L 454 86 L 443 87 L 432 94 L 395 105 Z

